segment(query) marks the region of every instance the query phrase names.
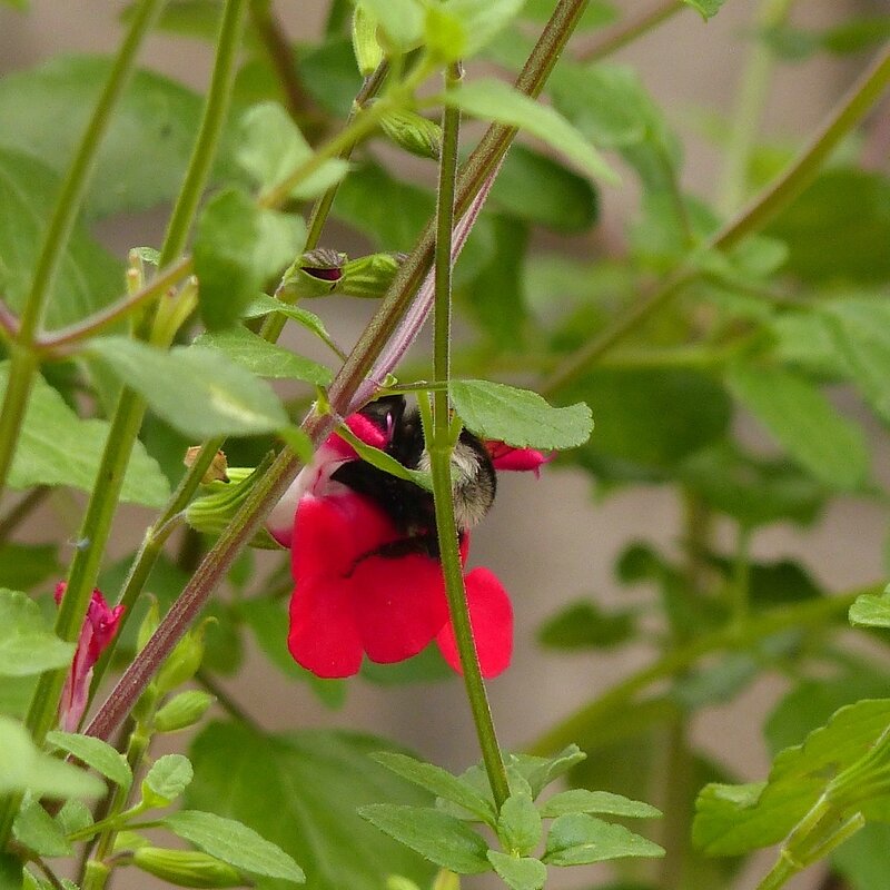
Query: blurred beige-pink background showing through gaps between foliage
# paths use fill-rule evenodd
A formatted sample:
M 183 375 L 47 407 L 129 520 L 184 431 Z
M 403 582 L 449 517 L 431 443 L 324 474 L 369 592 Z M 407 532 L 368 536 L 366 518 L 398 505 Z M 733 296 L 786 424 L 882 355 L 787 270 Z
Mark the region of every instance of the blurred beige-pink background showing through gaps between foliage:
M 626 0 L 623 14 L 650 7 L 646 0 Z M 684 144 L 684 188 L 713 195 L 718 182 L 719 154 L 709 136 L 709 118 L 729 115 L 736 95 L 739 70 L 750 50 L 760 3 L 728 0 L 708 23 L 684 10 L 620 50 L 615 60 L 632 65 L 665 109 Z M 277 13 L 295 39 L 315 38 L 327 3 L 322 0 L 278 2 Z M 820 28 L 842 18 L 842 10 L 886 12 L 880 0 L 808 0 L 798 3 L 793 20 L 802 28 Z M 27 13 L 0 7 L 0 73 L 29 68 L 59 52 L 108 52 L 116 48 L 121 29 L 121 4 L 102 0 L 33 0 Z M 190 87 L 202 90 L 210 63 L 208 47 L 200 41 L 152 37 L 145 63 Z M 861 68 L 859 57 L 819 55 L 795 65 L 780 65 L 765 106 L 763 129 L 777 138 L 795 139 L 811 132 L 851 83 Z M 135 148 L 138 152 L 138 149 Z M 135 155 L 138 158 L 138 154 Z M 417 167 L 425 175 L 432 167 Z M 603 188 L 599 225 L 590 235 L 571 239 L 580 257 L 617 249 L 633 215 L 637 195 L 630 177 L 622 188 Z M 2 212 L 2 208 L 0 208 Z M 134 215 L 113 224 L 100 224 L 102 243 L 120 257 L 134 245 L 158 244 L 166 221 L 164 208 Z M 555 236 L 542 236 L 553 239 Z M 359 253 L 356 236 L 333 227 L 324 245 Z M 314 308 L 324 317 L 337 342 L 349 345 L 362 329 L 368 307 L 360 301 L 329 299 Z M 286 333 L 286 337 L 288 334 Z M 284 342 L 287 342 L 286 339 Z M 300 344 L 305 346 L 305 344 Z M 843 399 L 843 394 L 839 394 Z M 596 406 L 592 406 L 596 419 Z M 870 425 L 878 446 L 877 475 L 890 479 L 882 433 Z M 594 433 L 595 435 L 595 433 Z M 760 432 L 746 431 L 753 441 Z M 52 495 L 44 510 L 22 530 L 27 540 L 39 542 L 47 528 L 73 540 L 83 500 L 70 492 Z M 516 614 L 516 646 L 510 671 L 491 684 L 490 694 L 502 744 L 518 749 L 590 699 L 646 663 L 647 651 L 622 651 L 621 657 L 590 651 L 558 654 L 535 645 L 538 626 L 562 604 L 593 595 L 603 606 L 626 605 L 644 591 L 629 593 L 613 577 L 619 553 L 633 540 L 646 540 L 670 550 L 682 527 L 674 493 L 659 486 L 634 486 L 607 497 L 592 491 L 580 471 L 545 467 L 540 479 L 528 475 L 502 475 L 497 503 L 474 535 L 472 562 L 492 567 L 510 591 Z M 138 544 L 150 516 L 125 507 L 116 527 L 115 554 L 123 555 Z M 729 533 L 729 530 L 725 530 Z M 723 530 L 718 530 L 718 536 Z M 823 520 L 805 532 L 772 526 L 759 532 L 754 553 L 764 558 L 794 556 L 802 560 L 829 589 L 850 589 L 884 575 L 886 516 L 873 503 L 848 498 L 834 501 Z M 263 558 L 263 557 L 260 557 Z M 283 636 L 284 636 L 283 629 Z M 476 761 L 477 748 L 461 685 L 456 682 L 407 686 L 377 686 L 356 681 L 343 710 L 322 706 L 305 685 L 289 683 L 270 672 L 265 659 L 248 652 L 245 670 L 226 690 L 261 725 L 270 730 L 306 725 L 346 725 L 398 739 L 428 760 L 453 770 Z M 740 781 L 764 777 L 768 755 L 761 738 L 763 715 L 778 700 L 783 684 L 762 680 L 731 706 L 712 708 L 696 720 L 700 746 L 728 763 Z M 657 803 L 657 801 L 655 801 Z M 739 884 L 753 887 L 762 874 L 767 854 Z M 591 872 L 592 873 L 592 872 Z M 558 876 L 557 876 L 558 877 Z M 566 876 L 566 879 L 568 876 Z M 132 886 L 149 886 L 134 876 Z M 819 886 L 818 873 L 801 876 L 789 887 L 804 890 Z M 485 886 L 482 879 L 468 887 Z M 557 884 L 556 881 L 553 883 Z M 573 876 L 564 886 L 578 887 Z

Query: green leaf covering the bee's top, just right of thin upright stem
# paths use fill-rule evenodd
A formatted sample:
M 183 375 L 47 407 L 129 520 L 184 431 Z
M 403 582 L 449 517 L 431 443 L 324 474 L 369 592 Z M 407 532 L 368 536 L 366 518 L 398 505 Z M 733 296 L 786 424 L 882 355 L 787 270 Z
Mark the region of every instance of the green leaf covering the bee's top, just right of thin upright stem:
M 468 429 L 521 448 L 573 448 L 593 429 L 583 403 L 554 408 L 537 393 L 491 380 L 452 380 L 454 407 Z

